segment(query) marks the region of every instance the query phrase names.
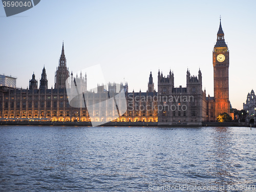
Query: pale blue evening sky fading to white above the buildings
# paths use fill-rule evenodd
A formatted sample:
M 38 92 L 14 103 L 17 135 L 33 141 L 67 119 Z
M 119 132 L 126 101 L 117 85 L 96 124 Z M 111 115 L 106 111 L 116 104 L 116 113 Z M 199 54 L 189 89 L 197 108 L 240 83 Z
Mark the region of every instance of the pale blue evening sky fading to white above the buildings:
M 214 96 L 212 50 L 220 15 L 229 48 L 229 99 L 241 110 L 256 90 L 256 1 L 64 1 L 41 0 L 6 17 L 0 6 L 0 74 L 27 88 L 33 72 L 46 68 L 49 88 L 65 46 L 73 73 L 100 65 L 105 82 L 127 82 L 145 92 L 153 74 L 174 72 L 175 87 L 186 87 L 186 71 L 202 71 L 203 90 Z M 101 77 L 87 74 L 88 81 Z M 39 81 L 38 81 L 39 82 Z M 98 82 L 102 83 L 102 82 Z

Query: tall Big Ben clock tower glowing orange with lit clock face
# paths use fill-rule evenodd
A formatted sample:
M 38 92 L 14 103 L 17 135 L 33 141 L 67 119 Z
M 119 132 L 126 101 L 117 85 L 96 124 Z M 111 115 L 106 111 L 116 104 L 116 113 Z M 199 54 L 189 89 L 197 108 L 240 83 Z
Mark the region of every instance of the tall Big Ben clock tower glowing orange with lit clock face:
M 214 98 L 215 98 L 215 119 L 220 113 L 230 113 L 228 68 L 229 50 L 224 39 L 224 32 L 220 27 L 217 33 L 217 42 L 212 52 L 214 65 Z

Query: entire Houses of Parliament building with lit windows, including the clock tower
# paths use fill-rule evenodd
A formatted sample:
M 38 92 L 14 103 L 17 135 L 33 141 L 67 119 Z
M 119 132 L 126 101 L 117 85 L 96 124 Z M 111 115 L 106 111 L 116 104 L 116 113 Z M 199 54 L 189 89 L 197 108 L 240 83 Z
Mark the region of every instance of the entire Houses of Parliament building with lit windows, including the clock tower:
M 87 90 L 87 75 L 69 72 L 62 44 L 61 55 L 55 72 L 54 88 L 49 89 L 46 68 L 42 69 L 40 81 L 35 74 L 29 80 L 27 89 L 16 88 L 16 79 L 0 75 L 0 119 L 1 121 L 85 121 L 85 122 L 158 122 L 159 125 L 190 124 L 217 121 L 221 113 L 230 112 L 229 102 L 229 50 L 220 26 L 217 42 L 212 51 L 214 69 L 214 97 L 202 90 L 202 73 L 196 76 L 187 69 L 186 87 L 175 87 L 174 72 L 158 72 L 155 91 L 152 72 L 146 92 L 129 92 L 128 83 L 109 83 L 108 89 L 98 85 L 97 91 Z M 67 80 L 68 79 L 68 80 Z M 94 104 L 89 113 L 87 104 L 74 106 L 68 90 L 72 82 L 77 89 L 87 92 L 87 102 Z M 39 85 L 38 85 L 39 83 Z M 102 83 L 102 82 L 98 82 Z M 120 88 L 120 89 L 119 89 Z M 126 111 L 118 112 L 118 102 L 110 100 L 111 95 L 123 91 Z M 84 95 L 80 99 L 85 99 Z M 106 102 L 101 102 L 106 101 Z M 117 109 L 117 110 L 116 110 Z

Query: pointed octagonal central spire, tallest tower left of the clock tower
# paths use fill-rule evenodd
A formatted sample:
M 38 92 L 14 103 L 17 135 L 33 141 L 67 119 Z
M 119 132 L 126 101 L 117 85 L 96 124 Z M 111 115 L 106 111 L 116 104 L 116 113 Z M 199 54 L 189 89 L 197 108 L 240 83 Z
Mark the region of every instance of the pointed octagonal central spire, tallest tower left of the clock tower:
M 67 68 L 67 60 L 64 53 L 64 43 L 62 43 L 62 51 L 59 58 L 59 66 L 55 72 L 54 89 L 66 88 L 66 80 L 69 78 L 69 69 Z

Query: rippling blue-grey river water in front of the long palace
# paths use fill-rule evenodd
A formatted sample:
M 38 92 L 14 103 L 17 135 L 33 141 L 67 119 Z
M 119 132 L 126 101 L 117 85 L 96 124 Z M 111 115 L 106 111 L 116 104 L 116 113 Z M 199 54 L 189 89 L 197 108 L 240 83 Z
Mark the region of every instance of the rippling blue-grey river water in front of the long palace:
M 256 191 L 255 147 L 250 127 L 0 126 L 0 190 Z

